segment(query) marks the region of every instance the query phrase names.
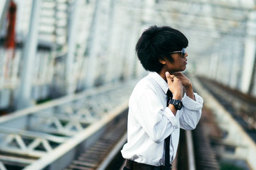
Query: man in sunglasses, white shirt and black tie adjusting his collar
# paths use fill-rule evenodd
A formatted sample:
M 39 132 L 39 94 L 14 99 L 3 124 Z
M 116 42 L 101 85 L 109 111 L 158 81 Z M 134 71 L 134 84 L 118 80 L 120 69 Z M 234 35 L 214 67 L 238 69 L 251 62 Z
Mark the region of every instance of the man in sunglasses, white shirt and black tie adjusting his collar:
M 124 169 L 170 169 L 179 129 L 195 129 L 198 124 L 203 99 L 180 73 L 186 69 L 187 46 L 184 34 L 166 26 L 152 26 L 138 40 L 138 59 L 150 73 L 129 99 L 128 138 L 121 151 L 127 159 Z

